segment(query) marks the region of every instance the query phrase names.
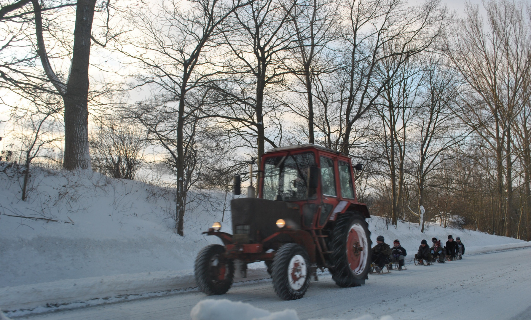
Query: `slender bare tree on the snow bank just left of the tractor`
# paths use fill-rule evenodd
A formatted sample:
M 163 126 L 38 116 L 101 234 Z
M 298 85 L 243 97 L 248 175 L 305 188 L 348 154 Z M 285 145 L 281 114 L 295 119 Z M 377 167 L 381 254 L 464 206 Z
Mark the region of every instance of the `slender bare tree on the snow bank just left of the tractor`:
M 160 119 L 167 119 L 168 115 L 175 117 L 176 122 L 171 122 L 175 128 L 169 127 L 170 123 L 162 124 L 157 117 L 150 117 L 154 122 L 142 120 L 148 133 L 172 154 L 176 165 L 176 217 L 175 228 L 179 235 L 184 234 L 184 213 L 187 185 L 186 167 L 187 154 L 193 154 L 189 141 L 185 141 L 186 124 L 195 124 L 196 106 L 187 101 L 187 93 L 197 90 L 205 82 L 205 77 L 216 71 L 211 69 L 209 62 L 210 50 L 213 48 L 212 39 L 220 36 L 220 23 L 238 8 L 247 2 L 230 2 L 224 0 L 191 0 L 183 6 L 181 2 L 167 2 L 159 7 L 145 6 L 141 10 L 131 13 L 127 17 L 142 36 L 131 36 L 122 40 L 118 45 L 119 51 L 140 63 L 142 71 L 138 76 L 140 85 L 149 84 L 151 88 L 162 90 L 161 105 L 152 110 L 139 109 L 140 114 L 160 112 Z M 126 44 L 136 48 L 131 52 Z M 200 68 L 201 73 L 196 72 Z M 210 68 L 210 71 L 208 71 Z M 176 108 L 173 103 L 176 102 Z M 160 107 L 160 108 L 159 108 Z M 139 119 L 137 114 L 137 119 Z M 160 126 L 164 129 L 160 131 Z M 174 143 L 166 143 L 164 134 L 175 134 Z M 189 132 L 193 134 L 193 130 Z M 173 137 L 170 139 L 173 141 Z

